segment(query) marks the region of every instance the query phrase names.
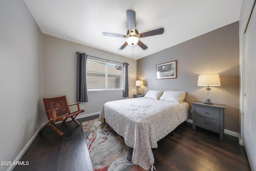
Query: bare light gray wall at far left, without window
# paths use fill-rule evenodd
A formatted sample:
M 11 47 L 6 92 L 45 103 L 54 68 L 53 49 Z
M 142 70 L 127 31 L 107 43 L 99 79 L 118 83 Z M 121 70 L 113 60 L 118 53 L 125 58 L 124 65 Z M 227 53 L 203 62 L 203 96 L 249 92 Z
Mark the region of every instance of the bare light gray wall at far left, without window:
M 0 161 L 13 162 L 42 125 L 43 39 L 23 0 L 1 0 L 0 23 Z

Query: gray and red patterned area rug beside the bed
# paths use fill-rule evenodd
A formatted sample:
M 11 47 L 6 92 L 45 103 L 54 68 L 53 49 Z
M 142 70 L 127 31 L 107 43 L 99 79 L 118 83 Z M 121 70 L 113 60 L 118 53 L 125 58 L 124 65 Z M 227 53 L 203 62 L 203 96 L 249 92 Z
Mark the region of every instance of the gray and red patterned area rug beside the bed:
M 108 123 L 98 119 L 82 122 L 94 171 L 145 171 L 132 162 L 131 147 Z

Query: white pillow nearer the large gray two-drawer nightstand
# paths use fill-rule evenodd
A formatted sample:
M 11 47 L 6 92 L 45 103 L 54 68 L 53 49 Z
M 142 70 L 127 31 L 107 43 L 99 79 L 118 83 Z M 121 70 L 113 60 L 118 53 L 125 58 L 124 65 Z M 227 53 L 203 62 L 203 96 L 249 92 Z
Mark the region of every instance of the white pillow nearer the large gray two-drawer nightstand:
M 186 97 L 186 91 L 164 91 L 159 100 L 181 103 Z

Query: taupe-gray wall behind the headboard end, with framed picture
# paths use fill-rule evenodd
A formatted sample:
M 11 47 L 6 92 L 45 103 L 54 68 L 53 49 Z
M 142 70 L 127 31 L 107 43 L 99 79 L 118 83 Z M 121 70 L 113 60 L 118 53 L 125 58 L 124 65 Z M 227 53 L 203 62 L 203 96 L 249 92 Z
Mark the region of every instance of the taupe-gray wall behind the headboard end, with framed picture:
M 220 87 L 211 87 L 213 103 L 226 104 L 224 129 L 239 132 L 239 22 L 198 36 L 137 60 L 137 79 L 148 90 L 187 91 L 184 101 L 205 101 L 206 87 L 198 75 L 220 74 Z M 164 42 L 162 42 L 164 43 Z M 177 60 L 177 78 L 156 80 L 156 65 Z M 190 113 L 191 114 L 191 113 Z M 191 117 L 190 117 L 191 119 Z

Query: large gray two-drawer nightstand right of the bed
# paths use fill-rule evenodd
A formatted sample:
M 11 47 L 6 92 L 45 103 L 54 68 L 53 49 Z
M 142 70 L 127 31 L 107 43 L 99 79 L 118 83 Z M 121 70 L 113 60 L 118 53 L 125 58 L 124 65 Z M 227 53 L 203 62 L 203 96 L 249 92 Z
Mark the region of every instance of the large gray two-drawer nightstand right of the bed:
M 204 104 L 204 102 L 194 101 L 192 128 L 196 126 L 220 133 L 220 139 L 224 139 L 224 109 L 226 105 Z

